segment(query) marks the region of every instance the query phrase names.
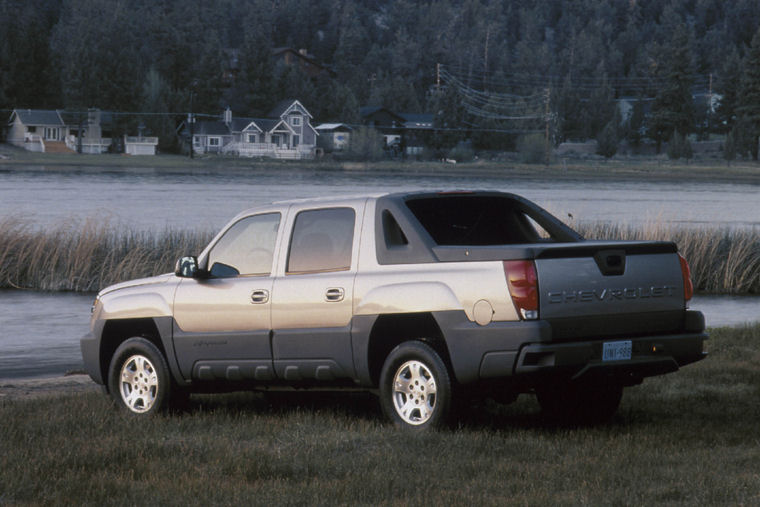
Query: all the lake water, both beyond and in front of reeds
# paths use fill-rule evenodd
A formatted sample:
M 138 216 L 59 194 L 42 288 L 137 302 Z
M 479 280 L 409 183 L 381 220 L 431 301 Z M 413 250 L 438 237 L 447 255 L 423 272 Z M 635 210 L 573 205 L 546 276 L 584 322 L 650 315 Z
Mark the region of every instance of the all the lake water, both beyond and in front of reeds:
M 40 227 L 107 220 L 160 231 L 216 230 L 242 209 L 272 201 L 379 191 L 476 188 L 521 194 L 560 218 L 643 224 L 757 227 L 760 186 L 705 181 L 526 178 L 416 174 L 405 170 L 153 169 L 0 170 L 0 220 Z M 0 291 L 0 378 L 62 375 L 82 367 L 92 295 Z M 760 298 L 697 297 L 708 326 L 760 320 Z

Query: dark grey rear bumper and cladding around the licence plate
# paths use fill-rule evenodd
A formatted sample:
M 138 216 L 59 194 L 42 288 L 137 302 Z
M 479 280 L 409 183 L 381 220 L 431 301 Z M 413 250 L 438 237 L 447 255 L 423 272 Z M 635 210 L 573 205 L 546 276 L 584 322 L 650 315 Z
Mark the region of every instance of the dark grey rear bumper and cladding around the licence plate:
M 676 371 L 706 356 L 703 342 L 708 335 L 704 332 L 704 317 L 695 311 L 681 314 L 677 332 L 630 336 L 616 332 L 572 340 L 558 340 L 552 324 L 545 320 L 478 326 L 463 321 L 454 312 L 435 316 L 441 328 L 447 330 L 451 363 L 462 384 L 511 378 L 534 386 L 552 379 L 614 377 L 617 382 L 632 385 L 644 377 Z M 630 359 L 602 360 L 605 342 L 627 340 L 631 341 Z

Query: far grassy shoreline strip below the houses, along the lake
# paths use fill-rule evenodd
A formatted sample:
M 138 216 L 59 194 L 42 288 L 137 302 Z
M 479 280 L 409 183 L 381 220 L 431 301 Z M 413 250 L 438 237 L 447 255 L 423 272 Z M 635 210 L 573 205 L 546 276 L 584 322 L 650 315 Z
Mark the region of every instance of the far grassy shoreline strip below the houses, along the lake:
M 735 161 L 730 166 L 720 159 L 695 159 L 688 163 L 660 157 L 630 157 L 599 160 L 596 158 L 558 158 L 550 165 L 525 164 L 513 155 L 483 158 L 450 164 L 430 160 L 380 160 L 356 162 L 335 159 L 274 160 L 239 157 L 202 156 L 190 159 L 183 155 L 79 155 L 32 153 L 9 145 L 0 145 L 0 172 L 124 172 L 177 174 L 245 174 L 269 171 L 342 171 L 352 173 L 395 173 L 415 175 L 456 175 L 509 177 L 517 179 L 598 179 L 631 181 L 699 180 L 760 185 L 760 162 Z

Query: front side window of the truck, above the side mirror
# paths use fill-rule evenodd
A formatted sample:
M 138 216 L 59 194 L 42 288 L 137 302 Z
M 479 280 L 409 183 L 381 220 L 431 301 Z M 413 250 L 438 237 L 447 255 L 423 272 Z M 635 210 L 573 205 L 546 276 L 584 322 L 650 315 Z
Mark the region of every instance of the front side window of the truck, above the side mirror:
M 209 253 L 211 276 L 268 275 L 272 271 L 279 213 L 243 218 L 230 227 Z

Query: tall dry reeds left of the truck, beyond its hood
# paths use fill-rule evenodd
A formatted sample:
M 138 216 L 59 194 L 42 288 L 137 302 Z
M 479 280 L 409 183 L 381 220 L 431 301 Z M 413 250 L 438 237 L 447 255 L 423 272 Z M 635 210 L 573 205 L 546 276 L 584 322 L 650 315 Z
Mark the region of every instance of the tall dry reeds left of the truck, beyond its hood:
M 208 232 L 134 231 L 109 222 L 61 223 L 41 230 L 17 217 L 0 219 L 0 288 L 97 291 L 110 284 L 174 269 L 197 254 Z

